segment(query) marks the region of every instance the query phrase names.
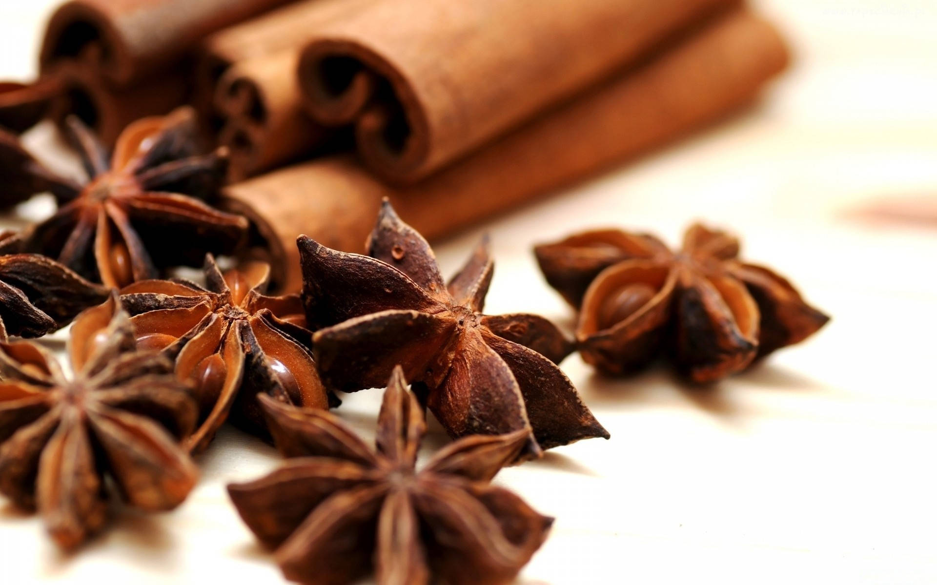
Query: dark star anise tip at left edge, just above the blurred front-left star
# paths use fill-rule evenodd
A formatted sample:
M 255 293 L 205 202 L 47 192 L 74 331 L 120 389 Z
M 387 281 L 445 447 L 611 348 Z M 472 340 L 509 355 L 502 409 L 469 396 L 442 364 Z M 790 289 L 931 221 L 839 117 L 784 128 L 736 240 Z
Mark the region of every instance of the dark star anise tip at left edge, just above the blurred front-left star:
M 41 337 L 107 299 L 107 289 L 38 254 L 18 254 L 19 235 L 0 232 L 0 340 Z

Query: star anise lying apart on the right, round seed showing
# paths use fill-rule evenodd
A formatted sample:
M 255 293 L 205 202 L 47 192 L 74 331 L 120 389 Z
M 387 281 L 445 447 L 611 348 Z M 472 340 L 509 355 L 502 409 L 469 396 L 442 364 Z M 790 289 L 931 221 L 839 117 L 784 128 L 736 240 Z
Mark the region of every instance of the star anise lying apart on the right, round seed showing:
M 734 236 L 699 224 L 677 253 L 652 236 L 617 230 L 535 252 L 547 282 L 581 306 L 580 352 L 606 373 L 632 372 L 666 351 L 693 382 L 713 382 L 829 320 L 781 276 L 739 260 Z

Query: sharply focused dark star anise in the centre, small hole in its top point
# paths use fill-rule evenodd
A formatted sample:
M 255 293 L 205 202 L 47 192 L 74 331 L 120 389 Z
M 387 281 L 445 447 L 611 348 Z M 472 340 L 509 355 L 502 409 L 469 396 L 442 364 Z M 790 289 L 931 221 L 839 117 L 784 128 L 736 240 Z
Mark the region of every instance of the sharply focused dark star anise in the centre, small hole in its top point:
M 386 201 L 370 255 L 301 237 L 303 300 L 327 388 L 376 388 L 401 364 L 454 437 L 531 430 L 522 458 L 608 432 L 556 363 L 572 350 L 534 314 L 482 314 L 494 264 L 487 241 L 447 287 L 423 237 Z

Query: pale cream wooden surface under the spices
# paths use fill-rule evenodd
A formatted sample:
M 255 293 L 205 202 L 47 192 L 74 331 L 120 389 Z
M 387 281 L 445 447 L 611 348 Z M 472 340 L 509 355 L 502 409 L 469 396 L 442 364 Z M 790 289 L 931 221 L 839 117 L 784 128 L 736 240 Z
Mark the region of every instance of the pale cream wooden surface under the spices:
M 25 79 L 52 2 L 3 5 L 2 70 Z M 558 517 L 525 583 L 937 582 L 937 227 L 855 214 L 937 198 L 937 4 L 761 5 L 795 43 L 795 69 L 729 124 L 483 227 L 498 259 L 487 308 L 568 325 L 532 243 L 595 225 L 676 241 L 705 218 L 735 227 L 747 257 L 790 275 L 833 321 L 704 393 L 662 372 L 602 379 L 567 359 L 613 438 L 498 476 Z M 439 246 L 447 273 L 481 231 Z M 362 392 L 337 412 L 371 434 L 378 402 Z M 437 426 L 427 443 L 442 442 Z M 121 516 L 71 557 L 0 503 L 2 582 L 280 582 L 223 489 L 275 464 L 269 447 L 224 431 L 185 505 Z

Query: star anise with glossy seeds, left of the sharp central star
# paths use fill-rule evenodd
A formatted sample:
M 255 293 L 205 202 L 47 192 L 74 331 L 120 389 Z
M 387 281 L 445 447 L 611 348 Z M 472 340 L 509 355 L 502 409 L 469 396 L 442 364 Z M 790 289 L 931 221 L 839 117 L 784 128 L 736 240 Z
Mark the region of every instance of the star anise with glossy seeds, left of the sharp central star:
M 209 255 L 204 275 L 206 287 L 147 280 L 121 291 L 138 344 L 174 359 L 176 373 L 195 388 L 199 427 L 186 447 L 208 446 L 232 406 L 239 426 L 264 434 L 258 392 L 328 408 L 299 295 L 265 296 L 270 269 L 260 262 L 222 273 Z

